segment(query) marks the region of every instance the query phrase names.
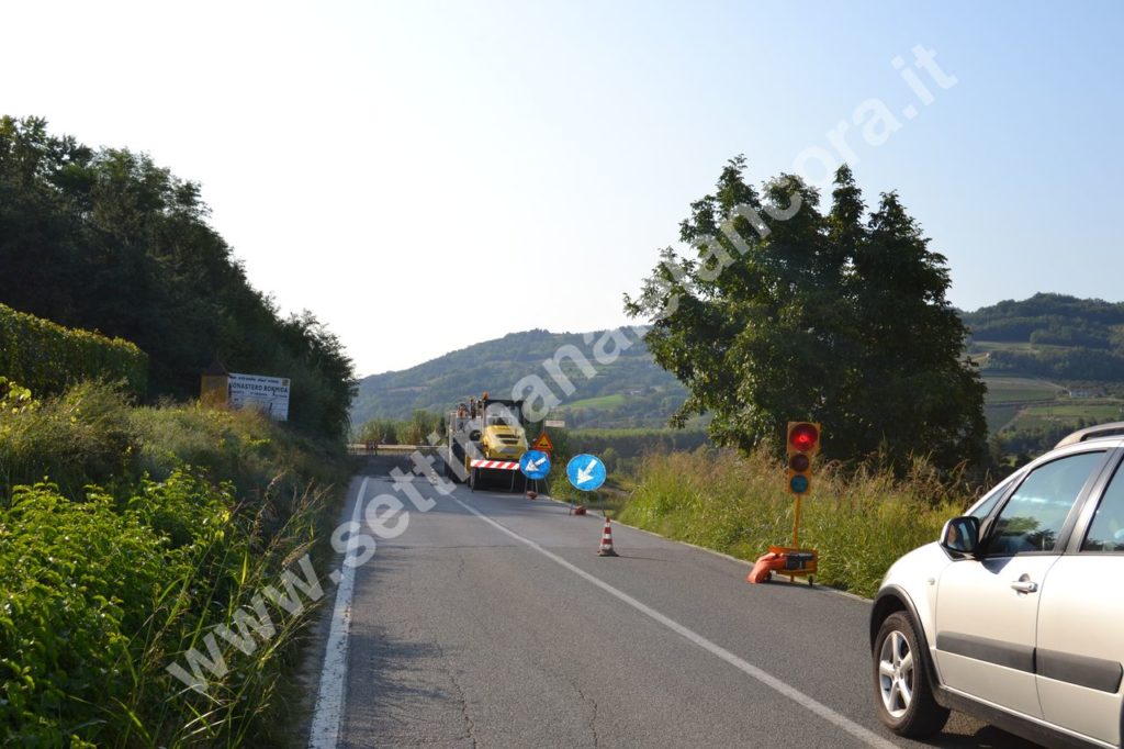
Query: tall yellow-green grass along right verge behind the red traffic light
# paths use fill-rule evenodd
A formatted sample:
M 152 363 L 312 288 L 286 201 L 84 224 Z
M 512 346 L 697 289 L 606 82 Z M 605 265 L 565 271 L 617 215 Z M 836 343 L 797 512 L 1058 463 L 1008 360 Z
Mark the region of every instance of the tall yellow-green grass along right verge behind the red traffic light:
M 895 559 L 934 541 L 972 498 L 924 461 L 904 479 L 817 467 L 814 494 L 801 502 L 800 545 L 819 551 L 817 581 L 870 596 Z M 753 560 L 770 545 L 791 544 L 794 511 L 785 467 L 771 453 L 699 450 L 647 455 L 619 517 Z

